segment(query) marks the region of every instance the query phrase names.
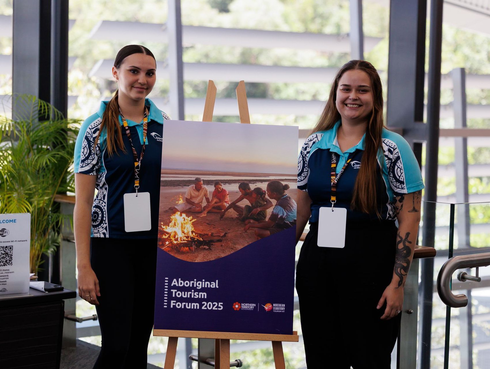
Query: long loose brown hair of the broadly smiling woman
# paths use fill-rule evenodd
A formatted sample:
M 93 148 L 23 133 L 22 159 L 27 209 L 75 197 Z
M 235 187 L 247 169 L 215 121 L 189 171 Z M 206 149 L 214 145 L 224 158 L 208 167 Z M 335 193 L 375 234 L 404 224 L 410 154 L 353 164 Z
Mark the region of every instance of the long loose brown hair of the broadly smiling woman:
M 364 213 L 381 216 L 378 209 L 376 196 L 376 172 L 378 152 L 381 149 L 381 133 L 384 127 L 383 121 L 383 87 L 376 69 L 365 60 L 351 60 L 345 63 L 337 72 L 330 88 L 330 95 L 321 113 L 320 119 L 313 128 L 312 133 L 333 128 L 335 123 L 341 119 L 335 101 L 337 100 L 337 88 L 342 75 L 350 70 L 366 72 L 371 80 L 373 105 L 368 117 L 366 139 L 362 165 L 354 185 L 354 193 L 351 208 Z

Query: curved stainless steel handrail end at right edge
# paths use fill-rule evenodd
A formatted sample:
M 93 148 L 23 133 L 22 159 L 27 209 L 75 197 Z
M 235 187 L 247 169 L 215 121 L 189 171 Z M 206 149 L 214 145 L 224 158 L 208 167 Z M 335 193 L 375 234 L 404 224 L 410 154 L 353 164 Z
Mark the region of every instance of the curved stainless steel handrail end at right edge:
M 442 302 L 450 307 L 465 307 L 468 304 L 466 295 L 454 295 L 449 288 L 454 271 L 465 268 L 486 267 L 488 265 L 490 265 L 490 252 L 455 256 L 446 261 L 437 276 L 437 293 Z

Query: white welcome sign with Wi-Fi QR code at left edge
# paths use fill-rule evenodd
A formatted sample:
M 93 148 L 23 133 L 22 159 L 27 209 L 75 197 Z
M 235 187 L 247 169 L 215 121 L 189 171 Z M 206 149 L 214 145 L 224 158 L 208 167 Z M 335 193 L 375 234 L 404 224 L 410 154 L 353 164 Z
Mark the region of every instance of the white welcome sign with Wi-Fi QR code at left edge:
M 30 214 L 0 214 L 0 297 L 29 292 Z

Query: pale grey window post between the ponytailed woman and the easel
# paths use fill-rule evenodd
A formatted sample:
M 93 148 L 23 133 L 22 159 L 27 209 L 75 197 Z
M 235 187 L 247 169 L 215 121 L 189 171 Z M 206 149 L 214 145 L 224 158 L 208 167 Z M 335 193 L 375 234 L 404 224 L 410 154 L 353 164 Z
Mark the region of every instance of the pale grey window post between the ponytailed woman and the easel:
M 184 120 L 184 75 L 182 65 L 180 0 L 169 0 L 167 31 L 169 35 L 169 102 L 172 119 L 182 121 Z

